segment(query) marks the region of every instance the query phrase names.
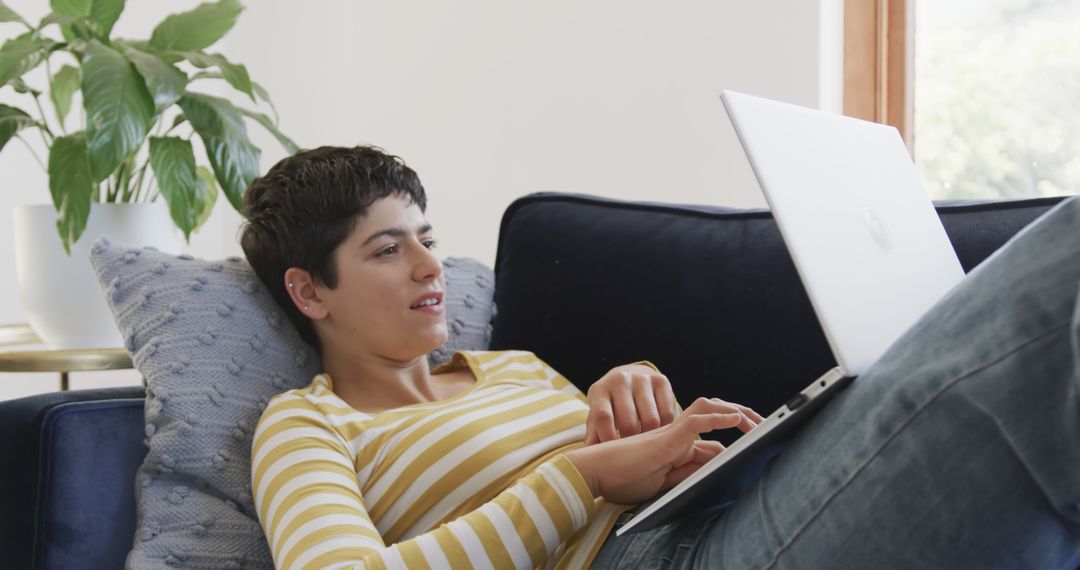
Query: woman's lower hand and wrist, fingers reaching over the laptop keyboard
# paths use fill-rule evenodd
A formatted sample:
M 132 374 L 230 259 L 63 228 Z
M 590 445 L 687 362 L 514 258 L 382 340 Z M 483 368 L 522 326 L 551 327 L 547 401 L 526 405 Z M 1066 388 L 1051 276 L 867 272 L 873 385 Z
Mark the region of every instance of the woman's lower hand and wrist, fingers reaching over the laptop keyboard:
M 660 429 L 581 447 L 566 453 L 593 497 L 621 504 L 647 501 L 670 489 L 724 451 L 718 442 L 698 439 L 713 430 L 748 432 L 760 416 L 718 398 L 698 398 L 675 421 Z M 753 410 L 751 410 L 753 411 Z

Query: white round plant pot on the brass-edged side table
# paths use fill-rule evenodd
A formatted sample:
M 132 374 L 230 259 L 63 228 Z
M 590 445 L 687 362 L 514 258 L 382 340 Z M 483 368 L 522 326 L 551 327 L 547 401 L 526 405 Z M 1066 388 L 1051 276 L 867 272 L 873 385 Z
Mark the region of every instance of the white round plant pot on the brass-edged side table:
M 35 332 L 54 349 L 122 348 L 105 293 L 90 264 L 102 234 L 132 246 L 179 253 L 181 235 L 161 202 L 91 204 L 86 231 L 64 252 L 51 204 L 15 206 L 15 272 L 23 310 Z

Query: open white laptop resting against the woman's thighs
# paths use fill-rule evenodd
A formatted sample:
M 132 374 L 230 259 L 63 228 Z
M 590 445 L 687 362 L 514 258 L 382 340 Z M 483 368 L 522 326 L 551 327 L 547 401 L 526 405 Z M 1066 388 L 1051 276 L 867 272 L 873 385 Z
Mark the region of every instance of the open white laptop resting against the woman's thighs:
M 733 91 L 721 98 L 838 366 L 619 534 L 729 504 L 799 425 L 963 279 L 895 128 Z

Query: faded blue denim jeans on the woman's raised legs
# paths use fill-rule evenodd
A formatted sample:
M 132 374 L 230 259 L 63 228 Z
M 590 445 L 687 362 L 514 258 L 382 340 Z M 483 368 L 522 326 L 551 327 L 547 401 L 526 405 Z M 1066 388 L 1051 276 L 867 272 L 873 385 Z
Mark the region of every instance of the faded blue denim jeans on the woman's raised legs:
M 1080 198 L 972 271 L 733 505 L 612 532 L 593 567 L 1077 568 L 1078 295 Z

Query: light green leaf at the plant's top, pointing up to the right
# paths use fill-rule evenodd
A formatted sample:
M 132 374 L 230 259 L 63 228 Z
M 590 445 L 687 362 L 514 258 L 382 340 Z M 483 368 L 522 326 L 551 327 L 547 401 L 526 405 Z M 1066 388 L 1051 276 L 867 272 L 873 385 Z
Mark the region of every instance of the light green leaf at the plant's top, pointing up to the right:
M 237 23 L 244 10 L 238 0 L 203 3 L 189 12 L 166 17 L 150 36 L 159 50 L 204 50 L 213 45 Z

